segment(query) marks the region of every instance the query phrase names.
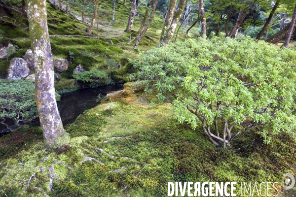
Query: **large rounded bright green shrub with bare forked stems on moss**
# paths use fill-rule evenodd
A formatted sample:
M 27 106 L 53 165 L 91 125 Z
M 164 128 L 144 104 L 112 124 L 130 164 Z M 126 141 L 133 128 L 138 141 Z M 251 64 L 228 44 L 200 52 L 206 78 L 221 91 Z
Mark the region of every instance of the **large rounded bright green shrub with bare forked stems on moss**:
M 296 138 L 295 50 L 221 36 L 142 52 L 133 64 L 147 93 L 170 101 L 179 122 L 200 122 L 216 146 L 259 125 L 265 143 L 281 131 Z

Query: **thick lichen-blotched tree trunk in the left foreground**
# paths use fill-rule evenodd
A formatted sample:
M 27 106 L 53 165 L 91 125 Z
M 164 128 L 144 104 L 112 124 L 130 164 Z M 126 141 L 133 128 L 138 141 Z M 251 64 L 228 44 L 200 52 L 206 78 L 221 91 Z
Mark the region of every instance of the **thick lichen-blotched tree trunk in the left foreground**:
M 46 0 L 25 0 L 31 47 L 36 70 L 36 102 L 46 145 L 54 145 L 65 136 L 54 90 L 53 60 L 49 42 Z M 36 3 L 38 2 L 38 3 Z

